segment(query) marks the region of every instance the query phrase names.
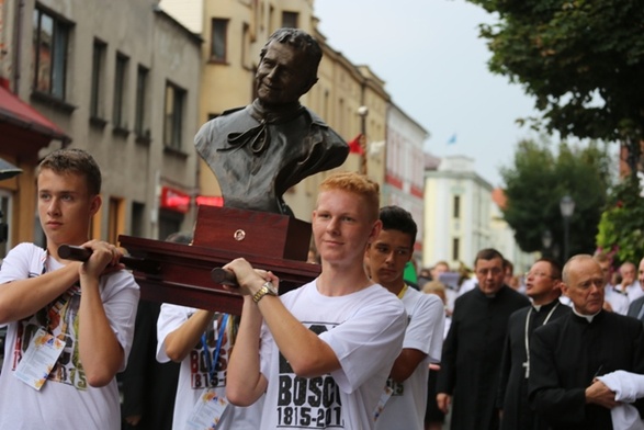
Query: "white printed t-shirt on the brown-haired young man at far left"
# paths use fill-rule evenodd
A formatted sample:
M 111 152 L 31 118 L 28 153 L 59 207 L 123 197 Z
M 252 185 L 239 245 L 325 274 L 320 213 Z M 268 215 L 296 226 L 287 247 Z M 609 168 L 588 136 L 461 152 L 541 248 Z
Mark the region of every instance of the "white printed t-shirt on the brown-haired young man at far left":
M 0 284 L 39 276 L 45 271 L 52 272 L 61 267 L 44 249 L 33 244 L 21 244 L 7 254 L 0 271 Z M 123 347 L 121 370 L 124 370 L 134 336 L 138 285 L 129 272 L 122 270 L 102 276 L 100 291 L 110 325 Z M 0 429 L 121 428 L 116 378 L 106 386 L 91 387 L 80 366 L 77 338 L 80 294 L 80 286 L 70 286 L 35 315 L 7 325 L 4 362 L 0 374 Z M 66 347 L 45 385 L 36 391 L 18 380 L 13 371 L 32 336 L 45 326 L 53 335 L 64 338 Z

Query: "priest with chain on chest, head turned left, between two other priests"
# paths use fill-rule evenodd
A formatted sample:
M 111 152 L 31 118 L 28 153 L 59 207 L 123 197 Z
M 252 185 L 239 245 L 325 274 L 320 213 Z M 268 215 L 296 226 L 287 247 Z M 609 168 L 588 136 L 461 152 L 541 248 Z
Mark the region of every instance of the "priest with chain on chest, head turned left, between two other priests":
M 549 258 L 536 260 L 526 274 L 526 295 L 532 299 L 532 305 L 515 312 L 508 321 L 497 397 L 502 410 L 501 430 L 547 429 L 528 404 L 528 358 L 534 329 L 570 312 L 560 302 L 561 283 L 562 268 Z

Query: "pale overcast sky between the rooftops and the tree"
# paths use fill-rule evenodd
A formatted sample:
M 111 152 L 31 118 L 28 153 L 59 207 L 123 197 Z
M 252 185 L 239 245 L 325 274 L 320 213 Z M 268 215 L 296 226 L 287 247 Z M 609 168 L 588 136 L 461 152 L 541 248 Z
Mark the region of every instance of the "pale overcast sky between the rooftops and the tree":
M 535 111 L 520 86 L 487 69 L 478 24 L 493 16 L 463 0 L 315 0 L 315 14 L 329 45 L 370 66 L 430 133 L 426 151 L 472 157 L 479 176 L 501 185 L 498 168 L 534 136 L 515 121 Z

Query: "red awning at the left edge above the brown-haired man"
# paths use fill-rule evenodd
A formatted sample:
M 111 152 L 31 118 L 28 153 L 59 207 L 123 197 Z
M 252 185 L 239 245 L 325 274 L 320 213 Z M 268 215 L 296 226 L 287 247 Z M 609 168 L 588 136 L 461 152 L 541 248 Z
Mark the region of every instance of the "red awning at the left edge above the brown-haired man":
M 0 144 L 13 144 L 2 145 L 5 151 L 32 160 L 53 139 L 64 144 L 71 140 L 56 124 L 9 91 L 4 79 L 0 79 Z

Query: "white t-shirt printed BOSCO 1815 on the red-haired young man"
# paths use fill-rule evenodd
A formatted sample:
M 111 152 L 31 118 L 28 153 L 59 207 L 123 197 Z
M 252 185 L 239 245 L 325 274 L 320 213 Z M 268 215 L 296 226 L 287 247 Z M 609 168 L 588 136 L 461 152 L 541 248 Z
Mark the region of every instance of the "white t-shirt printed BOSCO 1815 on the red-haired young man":
M 261 429 L 373 429 L 374 409 L 403 346 L 405 308 L 377 284 L 329 297 L 317 291 L 316 282 L 280 297 L 329 344 L 341 369 L 313 378 L 296 376 L 264 325 L 260 365 L 268 388 Z

